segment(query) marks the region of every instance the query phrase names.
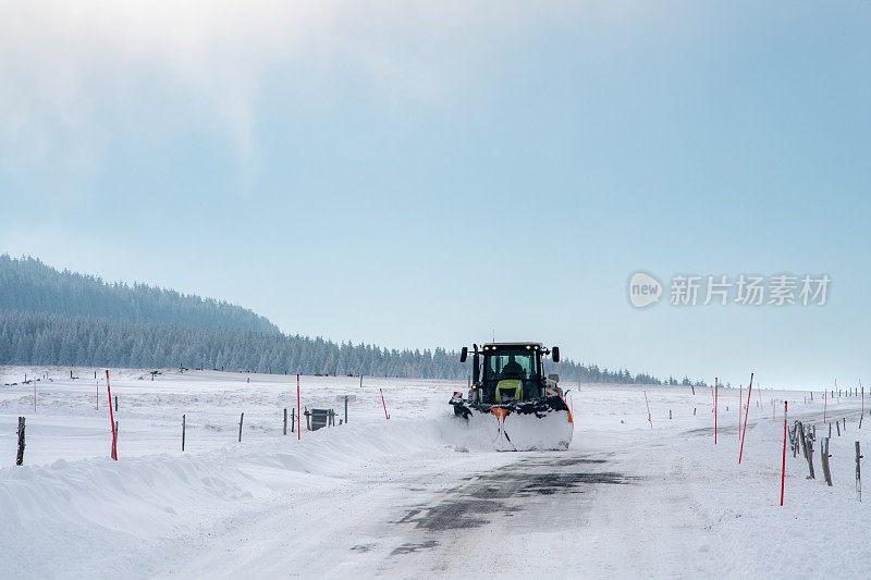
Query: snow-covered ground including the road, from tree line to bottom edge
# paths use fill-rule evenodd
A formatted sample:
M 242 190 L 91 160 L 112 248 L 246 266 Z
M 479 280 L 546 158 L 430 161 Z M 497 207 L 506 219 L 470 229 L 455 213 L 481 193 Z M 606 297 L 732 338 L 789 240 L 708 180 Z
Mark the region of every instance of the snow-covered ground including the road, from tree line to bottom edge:
M 25 373 L 41 379 L 36 411 Z M 829 421 L 847 418 L 842 436 L 833 428 L 829 488 L 821 393 L 753 392 L 738 465 L 737 390 L 720 390 L 716 445 L 710 388 L 584 384 L 563 385 L 568 452 L 496 453 L 446 405 L 465 381 L 303 377 L 305 407 L 343 419 L 338 397 L 356 398 L 346 424 L 297 441 L 282 436 L 295 377 L 116 369 L 115 462 L 103 373 L 0 368 L 3 578 L 871 573 L 871 493 L 859 503 L 855 491 L 854 442 L 871 448 L 860 397 L 826 404 Z M 790 424 L 818 423 L 817 479 L 787 448 L 780 507 L 784 398 Z

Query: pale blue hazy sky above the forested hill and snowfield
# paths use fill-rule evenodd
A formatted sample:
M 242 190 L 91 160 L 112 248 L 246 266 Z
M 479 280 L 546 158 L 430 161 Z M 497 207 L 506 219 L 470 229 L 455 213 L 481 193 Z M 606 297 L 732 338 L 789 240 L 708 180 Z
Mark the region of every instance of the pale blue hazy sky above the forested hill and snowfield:
M 871 382 L 867 1 L 4 13 L 0 252 L 334 341 Z M 659 304 L 631 306 L 637 271 Z M 671 304 L 676 275 L 741 274 L 831 284 Z

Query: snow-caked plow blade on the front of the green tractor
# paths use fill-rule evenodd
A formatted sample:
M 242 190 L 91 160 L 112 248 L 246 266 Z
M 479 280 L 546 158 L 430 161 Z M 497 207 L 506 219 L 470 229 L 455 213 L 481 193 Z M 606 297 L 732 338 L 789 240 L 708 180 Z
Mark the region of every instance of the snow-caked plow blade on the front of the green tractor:
M 455 395 L 451 405 L 455 415 L 486 433 L 496 451 L 565 451 L 572 443 L 572 411 L 559 395 L 498 405 L 469 403 Z

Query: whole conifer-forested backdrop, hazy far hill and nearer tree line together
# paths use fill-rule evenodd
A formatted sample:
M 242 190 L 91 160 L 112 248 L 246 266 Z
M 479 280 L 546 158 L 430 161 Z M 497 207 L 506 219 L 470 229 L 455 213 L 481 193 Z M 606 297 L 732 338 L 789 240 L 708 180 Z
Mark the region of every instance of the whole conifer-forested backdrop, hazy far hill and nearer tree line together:
M 0 256 L 0 365 L 421 379 L 465 379 L 471 372 L 457 353 L 443 348 L 388 350 L 286 335 L 266 318 L 228 303 L 145 284 L 107 284 L 7 255 Z M 567 381 L 660 383 L 645 373 L 571 360 L 550 371 Z

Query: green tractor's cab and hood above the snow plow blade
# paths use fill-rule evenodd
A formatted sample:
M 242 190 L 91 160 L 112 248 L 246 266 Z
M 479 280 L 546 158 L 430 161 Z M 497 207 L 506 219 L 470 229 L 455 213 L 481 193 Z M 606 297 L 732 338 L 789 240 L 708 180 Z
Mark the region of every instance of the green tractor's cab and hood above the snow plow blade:
M 461 360 L 467 350 L 463 349 Z M 480 357 L 483 356 L 481 363 Z M 560 361 L 560 349 L 548 350 L 540 343 L 489 343 L 474 351 L 474 384 L 469 398 L 488 405 L 502 405 L 536 400 L 544 396 L 548 383 L 559 380 L 545 378 L 542 358 L 551 356 Z

